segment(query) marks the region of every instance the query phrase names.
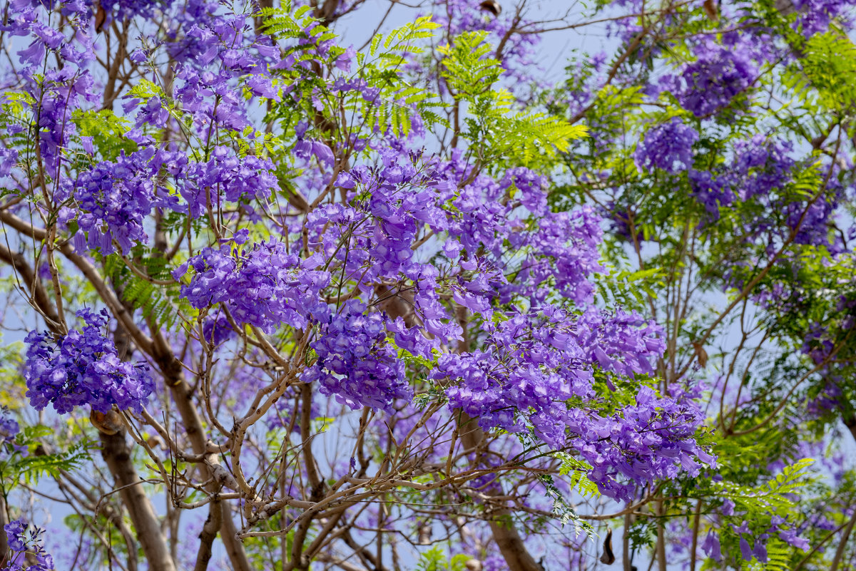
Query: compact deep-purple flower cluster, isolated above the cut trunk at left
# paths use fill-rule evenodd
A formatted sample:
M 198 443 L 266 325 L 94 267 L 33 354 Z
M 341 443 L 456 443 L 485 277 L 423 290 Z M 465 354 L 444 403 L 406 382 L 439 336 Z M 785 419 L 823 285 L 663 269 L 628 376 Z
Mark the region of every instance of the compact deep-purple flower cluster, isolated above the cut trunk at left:
M 119 409 L 140 411 L 154 390 L 145 362 L 123 362 L 116 345 L 106 337 L 106 309 L 80 309 L 80 329 L 56 338 L 33 331 L 27 335 L 24 378 L 27 397 L 35 409 L 53 404 L 59 413 L 88 404 L 99 412 Z

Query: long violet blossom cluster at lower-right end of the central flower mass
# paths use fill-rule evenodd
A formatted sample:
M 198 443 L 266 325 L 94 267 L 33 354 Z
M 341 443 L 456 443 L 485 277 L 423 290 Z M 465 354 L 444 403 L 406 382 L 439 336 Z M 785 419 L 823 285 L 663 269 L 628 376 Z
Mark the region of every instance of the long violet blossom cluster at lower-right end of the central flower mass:
M 532 427 L 551 446 L 574 448 L 591 464 L 591 480 L 619 499 L 632 497 L 628 480 L 698 474 L 701 464 L 714 463 L 694 440 L 704 419 L 692 395 L 657 397 L 644 386 L 634 406 L 601 414 L 598 371 L 607 372 L 605 386 L 612 390 L 610 373 L 652 373 L 651 360 L 664 348 L 652 324 L 630 314 L 574 315 L 544 306 L 485 327 L 484 350 L 445 354 L 431 372 L 434 380 L 454 381 L 449 407 L 479 419 L 484 429 Z

